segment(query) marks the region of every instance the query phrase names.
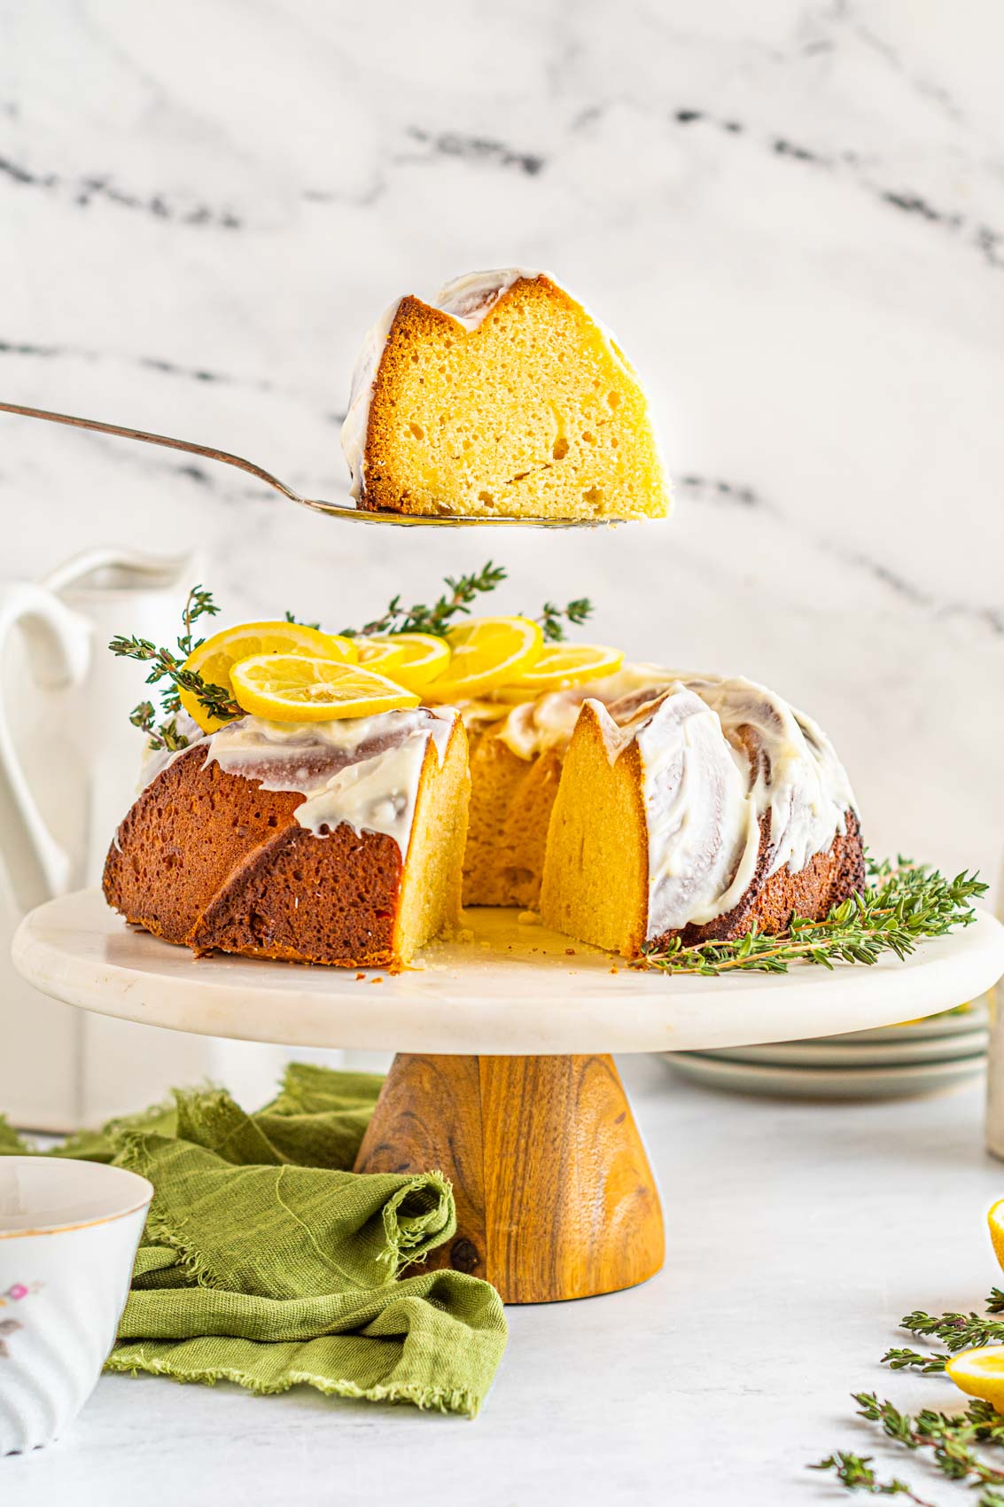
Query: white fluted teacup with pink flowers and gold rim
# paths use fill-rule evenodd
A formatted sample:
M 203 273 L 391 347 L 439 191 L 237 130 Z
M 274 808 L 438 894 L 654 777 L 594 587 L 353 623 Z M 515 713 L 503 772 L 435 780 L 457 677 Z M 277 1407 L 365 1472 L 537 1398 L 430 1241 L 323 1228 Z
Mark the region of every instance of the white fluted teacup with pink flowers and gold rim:
M 0 1156 L 0 1454 L 50 1444 L 93 1391 L 152 1197 L 121 1166 Z

